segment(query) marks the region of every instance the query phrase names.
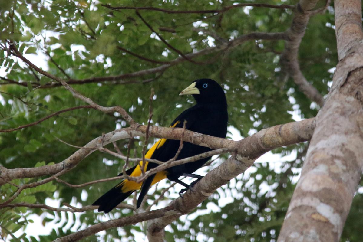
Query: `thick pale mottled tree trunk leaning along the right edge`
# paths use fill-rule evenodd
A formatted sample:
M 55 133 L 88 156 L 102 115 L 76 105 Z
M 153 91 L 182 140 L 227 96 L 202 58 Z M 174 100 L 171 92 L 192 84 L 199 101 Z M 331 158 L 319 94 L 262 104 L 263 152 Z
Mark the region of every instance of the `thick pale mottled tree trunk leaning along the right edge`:
M 335 1 L 339 63 L 278 241 L 339 241 L 363 169 L 361 1 Z

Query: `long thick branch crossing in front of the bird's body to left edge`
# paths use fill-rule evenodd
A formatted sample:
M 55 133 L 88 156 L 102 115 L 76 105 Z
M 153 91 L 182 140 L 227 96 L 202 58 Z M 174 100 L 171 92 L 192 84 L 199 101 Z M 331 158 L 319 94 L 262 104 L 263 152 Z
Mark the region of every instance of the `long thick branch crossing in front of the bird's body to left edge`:
M 222 139 L 192 132 L 189 130 L 184 130 L 183 139 L 184 142 L 190 142 L 212 149 L 227 148 L 228 150 L 237 152 L 240 155 L 253 157 L 256 156 L 256 154 L 259 156 L 260 154 L 265 153 L 265 149 L 269 150 L 271 149 L 271 147 L 276 147 L 276 145 L 287 145 L 284 143 L 279 143 L 280 141 L 278 139 L 281 139 L 282 141 L 290 139 L 297 140 L 298 138 L 301 141 L 304 141 L 306 139 L 308 140 L 314 130 L 314 125 L 314 119 L 305 119 L 299 122 L 277 125 L 268 129 L 261 130 L 256 134 L 243 139 L 248 140 L 247 143 L 245 143 L 245 141 L 243 140 L 233 141 L 228 139 Z M 12 179 L 54 175 L 62 171 L 63 169 L 71 169 L 86 156 L 97 150 L 99 144 L 107 145 L 121 139 L 127 139 L 136 136 L 145 136 L 146 129 L 146 125 L 141 125 L 136 128 L 129 127 L 109 132 L 90 141 L 83 148 L 73 153 L 73 155 L 69 156 L 64 161 L 61 161 L 60 163 L 56 163 L 54 165 L 15 169 L 6 169 L 5 167 L 0 167 L 0 185 Z M 257 134 L 263 135 L 260 138 L 256 139 L 255 137 L 257 137 Z M 183 128 L 150 126 L 149 135 L 156 138 L 178 140 L 183 135 Z M 243 144 L 244 147 L 240 147 L 240 144 Z M 248 149 L 246 149 L 246 147 L 248 147 Z

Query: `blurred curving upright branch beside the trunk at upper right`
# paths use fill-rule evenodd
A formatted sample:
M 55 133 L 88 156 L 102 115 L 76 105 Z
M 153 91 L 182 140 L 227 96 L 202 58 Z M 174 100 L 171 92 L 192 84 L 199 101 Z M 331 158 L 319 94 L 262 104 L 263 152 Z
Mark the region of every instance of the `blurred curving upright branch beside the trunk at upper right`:
M 281 65 L 285 71 L 293 78 L 299 89 L 311 101 L 316 102 L 319 106 L 323 106 L 323 96 L 313 87 L 304 77 L 300 70 L 298 62 L 298 50 L 305 34 L 307 23 L 310 16 L 314 13 L 313 9 L 319 0 L 300 0 L 295 8 L 293 22 L 289 29 L 286 30 L 288 40 L 286 41 L 284 53 L 281 55 Z

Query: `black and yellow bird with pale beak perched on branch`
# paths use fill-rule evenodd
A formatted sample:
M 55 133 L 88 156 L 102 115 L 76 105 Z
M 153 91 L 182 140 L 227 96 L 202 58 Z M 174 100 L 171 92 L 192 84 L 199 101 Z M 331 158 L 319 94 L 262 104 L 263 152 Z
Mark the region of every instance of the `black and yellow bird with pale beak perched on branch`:
M 190 131 L 198 132 L 201 134 L 225 138 L 227 135 L 227 99 L 223 88 L 212 79 L 197 79 L 185 88 L 179 95 L 191 94 L 196 103 L 194 106 L 181 112 L 171 123 L 171 128 L 185 128 Z M 166 162 L 175 157 L 180 146 L 180 140 L 159 139 L 156 143 L 148 149 L 145 154 L 147 159 L 156 159 Z M 183 146 L 176 157 L 176 160 L 198 155 L 211 148 L 195 145 L 189 142 L 183 142 Z M 203 176 L 193 174 L 197 169 L 202 167 L 211 157 L 203 158 L 197 161 L 176 165 L 167 168 L 164 171 L 158 172 L 154 175 L 147 177 L 146 180 L 140 183 L 130 181 L 127 179 L 122 180 L 119 184 L 115 185 L 108 192 L 99 197 L 92 205 L 99 206 L 98 211 L 108 213 L 114 209 L 119 203 L 129 197 L 135 190 L 140 190 L 137 199 L 136 208 L 139 208 L 141 202 L 148 192 L 151 185 L 163 179 L 168 179 L 172 182 L 177 182 L 185 187 L 180 191 L 185 192 L 188 188 L 198 182 Z M 157 167 L 158 164 L 145 161 L 144 169 L 148 171 Z M 142 174 L 142 161 L 138 165 L 128 169 L 126 174 L 135 177 Z M 122 176 L 122 173 L 119 174 Z M 179 180 L 180 176 L 188 176 L 196 178 L 190 185 Z

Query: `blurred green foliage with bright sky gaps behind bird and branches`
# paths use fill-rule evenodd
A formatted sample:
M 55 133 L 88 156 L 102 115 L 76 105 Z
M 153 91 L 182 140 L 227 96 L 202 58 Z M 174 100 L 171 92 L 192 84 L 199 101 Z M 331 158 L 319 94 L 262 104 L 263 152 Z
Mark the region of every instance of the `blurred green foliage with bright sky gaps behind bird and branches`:
M 157 67 L 162 65 L 157 62 L 172 61 L 179 54 L 160 41 L 136 15 L 135 10 L 110 11 L 101 4 L 209 10 L 236 3 L 241 1 L 1 1 L 0 38 L 2 42 L 11 39 L 19 43 L 17 48 L 25 53 L 25 57 L 32 58 L 33 63 L 58 77 L 72 80 L 108 77 Z M 268 3 L 294 5 L 297 1 L 273 0 Z M 250 32 L 284 32 L 293 17 L 292 9 L 258 7 L 232 8 L 219 14 L 167 14 L 150 10 L 140 10 L 139 13 L 162 38 L 182 53 L 221 44 L 219 38 L 213 38 L 212 35 L 231 40 Z M 204 29 L 204 32 L 195 28 Z M 120 48 L 154 61 L 142 60 Z M 238 130 L 242 137 L 246 137 L 262 128 L 293 121 L 293 113 L 297 114 L 294 118 L 298 119 L 317 114 L 317 104 L 307 99 L 284 73 L 284 67 L 279 62 L 283 51 L 283 40 L 247 41 L 225 52 L 194 58 L 197 63 L 184 61 L 160 73 L 121 81 L 74 84 L 73 87 L 102 106 L 122 106 L 139 123 L 147 122 L 148 98 L 153 88 L 156 97 L 152 102 L 152 123 L 168 126 L 175 116 L 193 103 L 191 97 L 179 97 L 179 92 L 195 79 L 212 78 L 225 89 L 229 125 Z M 333 75 L 331 68 L 337 64 L 332 7 L 324 14 L 311 18 L 298 58 L 306 79 L 322 95 L 327 94 Z M 34 73 L 23 62 L 8 56 L 4 50 L 0 50 L 0 67 L 1 129 L 18 127 L 52 112 L 84 105 L 62 86 L 51 86 L 52 80 Z M 9 80 L 17 83 L 9 83 Z M 8 169 L 58 163 L 77 150 L 58 139 L 82 146 L 103 132 L 126 126 L 126 122 L 117 114 L 86 108 L 65 112 L 36 126 L 1 133 L 0 162 Z M 131 153 L 140 156 L 142 141 L 135 139 L 132 142 Z M 128 142 L 118 142 L 124 153 Z M 248 173 L 218 189 L 194 213 L 168 226 L 166 240 L 276 241 L 306 148 L 307 144 L 303 143 L 274 150 L 281 156 L 292 154 L 296 159 L 255 163 Z M 217 159 L 201 173 L 217 166 L 224 159 L 225 156 Z M 112 177 L 120 172 L 123 164 L 123 160 L 94 152 L 61 179 L 81 184 Z M 18 179 L 12 182 L 19 185 L 35 180 Z M 13 203 L 44 204 L 47 198 L 51 198 L 61 204 L 65 202 L 86 206 L 114 183 L 98 183 L 77 189 L 51 182 L 24 190 Z M 167 186 L 167 183 L 161 186 Z M 151 194 L 149 203 L 160 195 L 161 186 Z M 168 198 L 177 196 L 178 189 L 178 186 L 170 189 L 159 205 L 154 207 L 167 204 L 170 201 Z M 0 199 L 10 197 L 15 190 L 16 187 L 10 184 L 1 186 Z M 363 226 L 362 208 L 359 206 L 362 202 L 362 194 L 358 193 L 341 241 L 359 241 L 358 228 Z M 3 208 L 0 210 L 1 237 L 6 241 L 52 241 L 81 227 L 131 213 L 128 209 L 117 209 L 106 215 L 95 211 L 75 215 L 25 207 Z M 54 226 L 49 234 L 38 238 L 23 232 L 32 222 L 28 218 L 34 214 L 42 218 L 40 227 Z M 68 226 L 67 220 L 77 223 Z M 139 239 L 135 236 L 144 232 L 143 225 L 136 224 L 110 229 L 88 237 L 85 241 L 134 241 Z M 42 234 L 41 231 L 39 234 Z

